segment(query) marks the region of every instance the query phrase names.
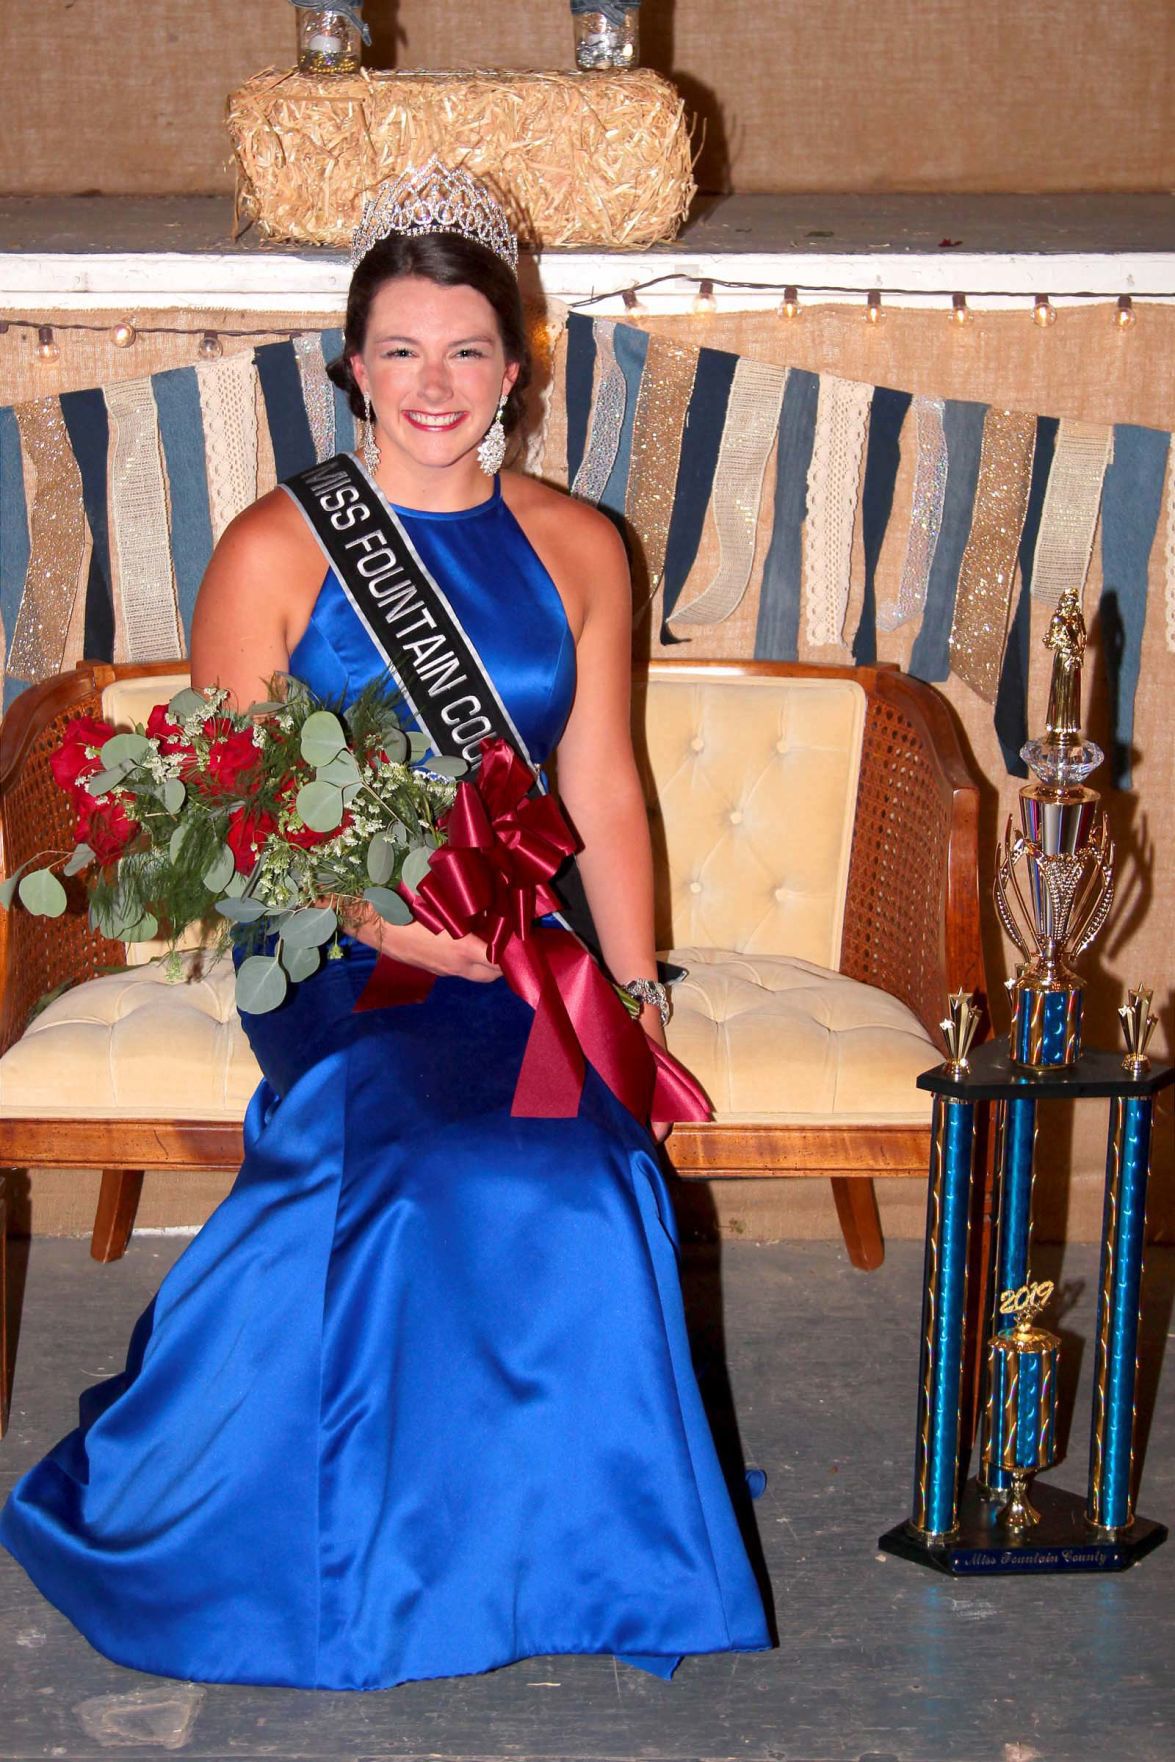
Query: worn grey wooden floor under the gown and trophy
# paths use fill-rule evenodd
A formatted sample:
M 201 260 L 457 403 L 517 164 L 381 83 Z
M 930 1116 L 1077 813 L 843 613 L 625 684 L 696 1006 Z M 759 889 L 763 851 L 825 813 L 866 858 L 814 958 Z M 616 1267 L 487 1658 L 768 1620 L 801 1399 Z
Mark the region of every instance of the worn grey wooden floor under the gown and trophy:
M 120 1366 L 181 1247 L 144 1237 L 100 1267 L 85 1242 L 12 1244 L 23 1322 L 0 1496 L 69 1429 L 78 1388 Z M 1059 1327 L 1075 1418 L 1055 1480 L 1080 1489 L 1096 1253 L 1043 1249 L 1034 1272 L 1069 1304 Z M 372 1695 L 197 1688 L 97 1656 L 0 1552 L 0 1758 L 1170 1762 L 1175 1542 L 1101 1581 L 950 1581 L 877 1554 L 909 1501 L 920 1274 L 913 1242 L 891 1244 L 876 1274 L 831 1244 L 687 1256 L 715 1427 L 729 1443 L 733 1390 L 745 1459 L 768 1475 L 754 1510 L 777 1651 L 687 1658 L 673 1683 L 611 1658 L 534 1658 Z M 1175 1251 L 1152 1249 L 1140 1512 L 1168 1524 L 1173 1297 Z

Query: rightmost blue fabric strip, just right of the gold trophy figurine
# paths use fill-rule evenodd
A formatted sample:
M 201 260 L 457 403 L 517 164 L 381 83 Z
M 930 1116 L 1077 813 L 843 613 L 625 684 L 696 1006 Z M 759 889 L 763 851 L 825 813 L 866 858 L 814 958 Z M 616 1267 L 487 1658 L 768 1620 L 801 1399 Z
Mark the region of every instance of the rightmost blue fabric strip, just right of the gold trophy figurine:
M 1110 768 L 1115 789 L 1133 779 L 1134 692 L 1147 622 L 1147 564 L 1159 525 L 1171 437 L 1117 423 L 1101 495 L 1101 652 L 1110 696 Z

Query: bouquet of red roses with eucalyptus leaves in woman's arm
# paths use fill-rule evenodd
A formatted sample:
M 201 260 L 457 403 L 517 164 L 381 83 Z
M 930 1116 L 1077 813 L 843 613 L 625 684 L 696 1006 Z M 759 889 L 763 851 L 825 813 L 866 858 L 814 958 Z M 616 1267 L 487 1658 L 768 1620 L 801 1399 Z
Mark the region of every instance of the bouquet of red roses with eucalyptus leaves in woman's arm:
M 373 909 L 410 922 L 396 888 L 428 872 L 467 766 L 425 761 L 425 737 L 400 728 L 379 684 L 338 712 L 298 680 L 243 714 L 225 698 L 181 691 L 130 733 L 76 717 L 49 763 L 78 842 L 9 876 L 0 904 L 16 892 L 28 911 L 60 916 L 58 870 L 85 872 L 92 922 L 111 939 L 174 944 L 218 925 L 255 950 L 236 999 L 259 1013 L 336 953 L 349 920 Z

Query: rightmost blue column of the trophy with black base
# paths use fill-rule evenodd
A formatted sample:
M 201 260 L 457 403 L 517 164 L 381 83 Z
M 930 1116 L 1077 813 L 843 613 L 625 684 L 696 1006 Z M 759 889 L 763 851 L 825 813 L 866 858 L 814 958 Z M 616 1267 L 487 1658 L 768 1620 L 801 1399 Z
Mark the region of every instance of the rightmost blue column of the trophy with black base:
M 1134 1381 L 1150 1112 L 1150 1096 L 1115 1096 L 1110 1103 L 1087 1517 L 1112 1531 L 1134 1521 Z

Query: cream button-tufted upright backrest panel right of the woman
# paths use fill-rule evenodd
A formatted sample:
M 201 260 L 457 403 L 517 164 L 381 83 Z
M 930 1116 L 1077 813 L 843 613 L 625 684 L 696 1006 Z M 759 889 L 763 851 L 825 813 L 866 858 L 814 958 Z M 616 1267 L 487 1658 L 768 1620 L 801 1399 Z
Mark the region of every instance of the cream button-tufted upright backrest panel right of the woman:
M 657 939 L 837 967 L 865 726 L 856 680 L 654 673 L 636 726 Z

